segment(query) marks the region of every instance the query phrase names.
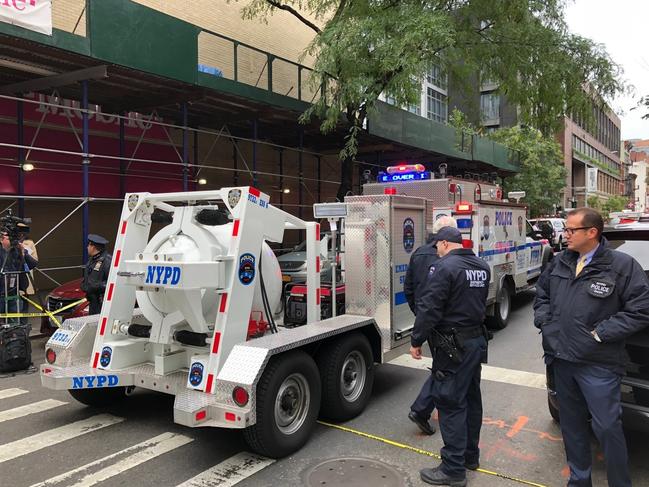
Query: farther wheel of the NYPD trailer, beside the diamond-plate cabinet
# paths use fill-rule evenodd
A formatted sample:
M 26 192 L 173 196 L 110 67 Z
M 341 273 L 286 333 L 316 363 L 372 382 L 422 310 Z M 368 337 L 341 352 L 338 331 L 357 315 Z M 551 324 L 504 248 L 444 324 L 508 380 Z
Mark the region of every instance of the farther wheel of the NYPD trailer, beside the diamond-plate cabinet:
M 337 421 L 358 416 L 370 400 L 374 357 L 367 337 L 354 333 L 320 349 L 316 358 L 322 381 L 320 415 Z

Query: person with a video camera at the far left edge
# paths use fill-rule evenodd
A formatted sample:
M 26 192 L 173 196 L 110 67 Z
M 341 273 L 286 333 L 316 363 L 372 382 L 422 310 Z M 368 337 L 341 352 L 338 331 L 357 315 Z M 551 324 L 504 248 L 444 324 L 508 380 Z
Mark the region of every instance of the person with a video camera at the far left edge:
M 30 285 L 29 271 L 38 265 L 21 240 L 29 231 L 28 219 L 11 214 L 0 218 L 2 246 L 0 247 L 0 313 L 20 313 L 23 309 L 20 293 Z M 4 320 L 19 324 L 17 318 Z M 29 325 L 26 323 L 26 327 Z

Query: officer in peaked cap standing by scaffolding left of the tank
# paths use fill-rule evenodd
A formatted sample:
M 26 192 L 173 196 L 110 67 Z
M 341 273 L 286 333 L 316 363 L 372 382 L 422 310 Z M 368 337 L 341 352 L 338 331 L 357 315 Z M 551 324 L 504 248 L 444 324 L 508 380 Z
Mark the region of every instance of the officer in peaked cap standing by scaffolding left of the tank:
M 86 293 L 91 315 L 101 312 L 110 263 L 113 260 L 113 257 L 106 252 L 106 244 L 108 244 L 108 240 L 101 235 L 94 233 L 88 235 L 88 256 L 90 258 L 83 272 L 81 289 Z

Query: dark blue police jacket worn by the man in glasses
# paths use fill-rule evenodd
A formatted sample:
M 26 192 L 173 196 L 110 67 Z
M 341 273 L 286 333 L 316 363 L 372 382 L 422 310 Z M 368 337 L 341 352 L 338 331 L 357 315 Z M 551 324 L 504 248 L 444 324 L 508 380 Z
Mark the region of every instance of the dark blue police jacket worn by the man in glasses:
M 564 250 L 536 285 L 534 325 L 543 334 L 545 359 L 597 364 L 624 372 L 624 340 L 649 325 L 649 280 L 631 256 L 604 237 L 575 277 L 579 254 Z M 602 343 L 595 340 L 595 330 Z

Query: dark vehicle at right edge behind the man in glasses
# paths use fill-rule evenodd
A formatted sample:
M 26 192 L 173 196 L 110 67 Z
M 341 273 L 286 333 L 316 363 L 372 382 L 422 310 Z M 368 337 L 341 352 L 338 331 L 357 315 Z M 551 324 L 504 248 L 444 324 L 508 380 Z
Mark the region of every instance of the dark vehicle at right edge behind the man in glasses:
M 611 248 L 631 255 L 649 276 L 649 222 L 607 227 L 604 236 Z M 649 327 L 627 339 L 626 351 L 629 361 L 622 379 L 623 422 L 625 426 L 649 430 Z M 560 404 L 551 365 L 546 376 L 550 414 L 559 421 Z

